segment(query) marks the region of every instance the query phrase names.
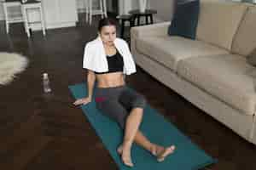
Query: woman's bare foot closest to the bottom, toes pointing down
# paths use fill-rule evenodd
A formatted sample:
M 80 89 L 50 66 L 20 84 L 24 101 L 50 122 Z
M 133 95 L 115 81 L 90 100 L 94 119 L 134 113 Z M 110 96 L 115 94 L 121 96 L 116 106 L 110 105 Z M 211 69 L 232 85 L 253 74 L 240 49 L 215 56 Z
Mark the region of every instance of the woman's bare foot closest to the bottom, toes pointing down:
M 128 167 L 133 167 L 133 163 L 131 161 L 131 146 L 129 144 L 126 144 L 126 146 L 123 146 L 122 144 L 119 145 L 118 153 L 122 157 L 122 161 L 125 163 Z

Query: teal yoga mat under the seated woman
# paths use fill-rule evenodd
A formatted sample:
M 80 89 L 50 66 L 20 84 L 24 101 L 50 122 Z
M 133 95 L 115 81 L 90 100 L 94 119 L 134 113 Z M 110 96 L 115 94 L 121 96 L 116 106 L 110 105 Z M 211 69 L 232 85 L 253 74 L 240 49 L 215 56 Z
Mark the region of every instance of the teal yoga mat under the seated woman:
M 75 99 L 82 98 L 87 94 L 85 83 L 69 86 L 68 88 Z M 132 88 L 130 89 L 133 90 Z M 135 166 L 132 168 L 126 167 L 116 151 L 123 137 L 118 124 L 109 119 L 108 116 L 103 116 L 96 109 L 94 96 L 90 104 L 80 107 L 84 112 L 84 116 L 88 118 L 91 126 L 95 128 L 97 135 L 102 139 L 102 143 L 121 170 L 194 170 L 216 162 L 204 150 L 193 144 L 177 127 L 168 122 L 164 116 L 161 116 L 158 111 L 147 105 L 144 109 L 140 130 L 150 141 L 164 146 L 175 144 L 177 150 L 171 156 L 166 157 L 165 161 L 158 162 L 147 150 L 143 150 L 137 144 L 133 144 L 131 158 Z

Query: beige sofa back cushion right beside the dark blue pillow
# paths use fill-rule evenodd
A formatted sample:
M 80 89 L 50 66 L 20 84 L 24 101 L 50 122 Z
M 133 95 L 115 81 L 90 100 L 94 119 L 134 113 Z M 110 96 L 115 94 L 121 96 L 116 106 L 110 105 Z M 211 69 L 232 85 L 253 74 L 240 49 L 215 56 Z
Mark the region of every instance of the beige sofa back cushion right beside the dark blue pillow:
M 242 3 L 201 0 L 196 39 L 230 50 L 246 9 Z

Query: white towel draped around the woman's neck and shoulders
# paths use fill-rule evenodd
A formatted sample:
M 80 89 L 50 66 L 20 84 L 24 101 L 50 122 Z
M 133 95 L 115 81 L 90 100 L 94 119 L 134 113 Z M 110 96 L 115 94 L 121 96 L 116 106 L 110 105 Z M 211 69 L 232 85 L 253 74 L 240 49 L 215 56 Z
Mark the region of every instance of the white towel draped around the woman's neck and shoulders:
M 125 75 L 131 75 L 136 72 L 136 65 L 131 56 L 129 46 L 125 40 L 116 37 L 113 41 L 115 48 L 119 51 L 119 54 L 124 60 Z M 103 46 L 102 38 L 96 37 L 96 39 L 87 42 L 84 48 L 84 61 L 83 68 L 96 72 L 108 71 L 108 60 Z

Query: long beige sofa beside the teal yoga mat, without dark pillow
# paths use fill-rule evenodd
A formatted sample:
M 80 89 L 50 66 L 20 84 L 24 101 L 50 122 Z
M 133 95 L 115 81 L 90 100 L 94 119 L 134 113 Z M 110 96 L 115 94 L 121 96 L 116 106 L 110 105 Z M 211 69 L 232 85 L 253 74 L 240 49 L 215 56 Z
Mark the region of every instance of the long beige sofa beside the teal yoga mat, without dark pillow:
M 169 25 L 131 29 L 137 65 L 256 144 L 256 69 L 245 57 L 256 48 L 256 7 L 201 0 L 196 40 L 169 37 Z

